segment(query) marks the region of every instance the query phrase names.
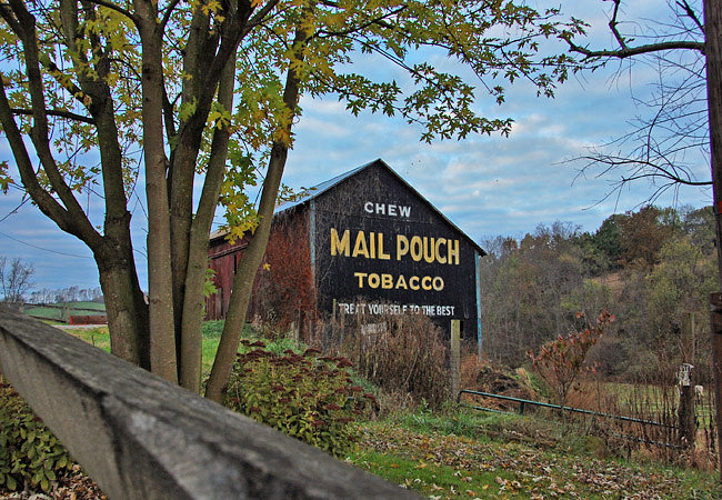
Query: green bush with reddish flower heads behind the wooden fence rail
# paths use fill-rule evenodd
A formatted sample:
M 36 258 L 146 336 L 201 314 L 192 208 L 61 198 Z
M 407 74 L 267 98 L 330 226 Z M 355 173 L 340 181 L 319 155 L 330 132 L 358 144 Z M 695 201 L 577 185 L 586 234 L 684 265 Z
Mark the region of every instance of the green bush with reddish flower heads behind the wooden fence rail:
M 260 341 L 243 343 L 253 349 L 238 354 L 224 404 L 335 457 L 344 456 L 355 441 L 350 423 L 375 402 L 353 383 L 345 370 L 351 362 L 319 358 L 315 349 L 279 354 Z

